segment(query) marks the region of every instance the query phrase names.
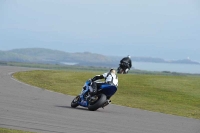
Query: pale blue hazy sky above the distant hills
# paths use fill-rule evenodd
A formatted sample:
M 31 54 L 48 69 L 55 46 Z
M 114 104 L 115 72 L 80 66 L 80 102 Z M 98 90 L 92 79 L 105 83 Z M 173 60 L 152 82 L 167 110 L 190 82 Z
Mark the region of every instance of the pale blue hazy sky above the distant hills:
M 199 0 L 0 0 L 0 50 L 200 62 Z

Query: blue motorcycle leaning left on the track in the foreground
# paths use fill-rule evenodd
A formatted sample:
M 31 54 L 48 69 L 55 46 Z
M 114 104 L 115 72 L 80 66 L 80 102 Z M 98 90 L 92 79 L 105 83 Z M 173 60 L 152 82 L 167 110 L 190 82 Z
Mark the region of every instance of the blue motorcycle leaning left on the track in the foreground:
M 110 97 L 115 94 L 117 87 L 110 84 L 103 84 L 97 89 L 96 95 L 89 97 L 89 86 L 91 81 L 87 80 L 84 84 L 80 95 L 76 96 L 72 102 L 71 107 L 77 106 L 86 107 L 91 111 L 96 111 L 99 108 L 104 108 L 110 103 Z

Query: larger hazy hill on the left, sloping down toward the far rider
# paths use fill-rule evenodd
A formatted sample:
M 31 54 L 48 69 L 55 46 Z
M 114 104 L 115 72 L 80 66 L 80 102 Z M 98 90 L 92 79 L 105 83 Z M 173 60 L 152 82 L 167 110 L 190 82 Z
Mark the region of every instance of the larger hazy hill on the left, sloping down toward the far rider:
M 44 48 L 26 48 L 14 49 L 9 51 L 0 51 L 0 61 L 16 62 L 35 62 L 35 63 L 52 63 L 61 64 L 73 62 L 76 64 L 112 64 L 114 61 L 104 55 L 84 52 L 84 53 L 67 53 L 58 50 Z

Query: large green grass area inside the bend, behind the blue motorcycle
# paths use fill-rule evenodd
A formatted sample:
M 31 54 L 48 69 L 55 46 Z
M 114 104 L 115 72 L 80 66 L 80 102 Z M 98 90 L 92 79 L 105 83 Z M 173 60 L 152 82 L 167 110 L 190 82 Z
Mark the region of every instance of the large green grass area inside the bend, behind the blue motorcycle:
M 14 77 L 40 88 L 78 95 L 84 82 L 100 71 L 34 70 Z M 200 76 L 127 74 L 119 75 L 112 103 L 166 114 L 200 119 Z

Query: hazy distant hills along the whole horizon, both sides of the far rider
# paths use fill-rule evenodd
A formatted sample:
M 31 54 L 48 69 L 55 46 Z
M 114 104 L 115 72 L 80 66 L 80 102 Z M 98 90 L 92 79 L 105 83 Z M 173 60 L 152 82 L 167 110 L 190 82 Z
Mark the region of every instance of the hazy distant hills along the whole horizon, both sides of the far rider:
M 108 66 L 116 67 L 123 57 L 105 56 L 96 53 L 68 53 L 59 50 L 44 48 L 25 48 L 0 51 L 0 61 L 51 63 L 51 64 L 76 64 L 87 66 Z M 200 64 L 189 59 L 166 61 L 161 58 L 152 57 L 131 57 L 133 62 L 154 62 L 154 63 L 182 63 Z

